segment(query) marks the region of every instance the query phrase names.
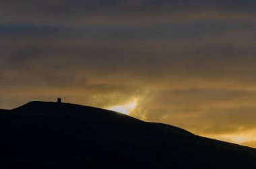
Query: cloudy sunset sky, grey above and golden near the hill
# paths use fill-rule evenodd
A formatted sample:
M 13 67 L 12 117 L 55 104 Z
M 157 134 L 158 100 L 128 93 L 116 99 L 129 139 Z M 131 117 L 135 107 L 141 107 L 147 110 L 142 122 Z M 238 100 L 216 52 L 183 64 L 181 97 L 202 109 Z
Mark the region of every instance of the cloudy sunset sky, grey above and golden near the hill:
M 2 0 L 0 108 L 117 110 L 256 147 L 256 1 Z

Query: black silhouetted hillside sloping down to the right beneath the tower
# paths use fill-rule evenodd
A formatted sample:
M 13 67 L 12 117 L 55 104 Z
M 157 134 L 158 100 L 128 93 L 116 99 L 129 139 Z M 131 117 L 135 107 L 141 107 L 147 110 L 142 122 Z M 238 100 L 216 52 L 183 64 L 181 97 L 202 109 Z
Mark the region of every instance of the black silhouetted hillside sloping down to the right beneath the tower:
M 256 150 L 76 104 L 0 110 L 0 161 L 84 162 L 94 168 L 256 168 Z

